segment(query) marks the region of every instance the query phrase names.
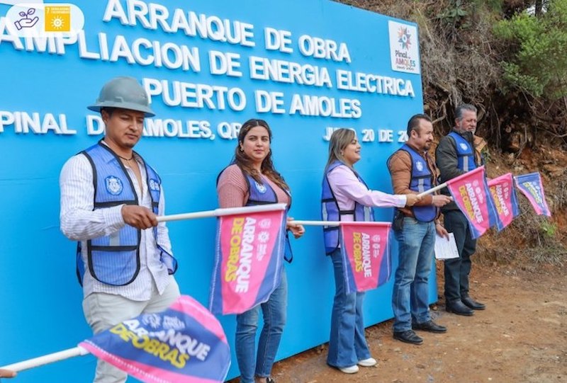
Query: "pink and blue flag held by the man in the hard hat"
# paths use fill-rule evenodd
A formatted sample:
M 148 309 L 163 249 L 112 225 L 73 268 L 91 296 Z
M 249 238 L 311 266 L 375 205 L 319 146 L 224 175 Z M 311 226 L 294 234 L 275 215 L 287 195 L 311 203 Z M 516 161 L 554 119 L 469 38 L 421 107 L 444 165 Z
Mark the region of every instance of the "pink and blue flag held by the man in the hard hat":
M 285 205 L 218 217 L 210 310 L 241 314 L 266 302 L 281 282 L 285 238 Z

